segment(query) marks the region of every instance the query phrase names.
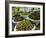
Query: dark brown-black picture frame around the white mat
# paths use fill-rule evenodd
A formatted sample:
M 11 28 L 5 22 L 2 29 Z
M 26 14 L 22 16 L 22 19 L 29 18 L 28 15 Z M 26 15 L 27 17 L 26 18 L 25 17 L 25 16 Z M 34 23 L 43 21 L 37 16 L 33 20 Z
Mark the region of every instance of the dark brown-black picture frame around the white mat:
M 34 4 L 34 5 L 43 5 L 43 33 L 36 34 L 22 34 L 22 35 L 8 35 L 9 34 L 9 4 Z M 45 3 L 41 2 L 22 2 L 22 1 L 5 1 L 5 37 L 22 37 L 22 36 L 40 36 L 45 35 Z

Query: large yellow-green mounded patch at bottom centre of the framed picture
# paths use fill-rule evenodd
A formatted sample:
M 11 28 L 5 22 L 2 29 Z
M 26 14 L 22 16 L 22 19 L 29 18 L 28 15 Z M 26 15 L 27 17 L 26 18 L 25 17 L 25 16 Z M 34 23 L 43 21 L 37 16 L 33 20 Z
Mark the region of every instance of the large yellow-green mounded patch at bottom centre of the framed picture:
M 16 29 L 17 31 L 27 31 L 32 30 L 34 25 L 29 20 L 23 20 L 17 24 Z

